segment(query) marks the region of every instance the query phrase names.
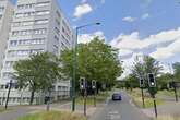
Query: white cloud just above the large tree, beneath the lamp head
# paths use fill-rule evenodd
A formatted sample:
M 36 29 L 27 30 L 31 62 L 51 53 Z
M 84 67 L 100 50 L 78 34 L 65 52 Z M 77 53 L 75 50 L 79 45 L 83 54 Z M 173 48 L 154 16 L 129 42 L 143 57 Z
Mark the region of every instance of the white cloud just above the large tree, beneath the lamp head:
M 99 37 L 100 39 L 105 39 L 105 35 L 101 31 L 97 31 L 93 34 L 82 34 L 79 36 L 79 43 L 89 43 L 91 40 L 93 40 L 93 38 L 95 37 Z

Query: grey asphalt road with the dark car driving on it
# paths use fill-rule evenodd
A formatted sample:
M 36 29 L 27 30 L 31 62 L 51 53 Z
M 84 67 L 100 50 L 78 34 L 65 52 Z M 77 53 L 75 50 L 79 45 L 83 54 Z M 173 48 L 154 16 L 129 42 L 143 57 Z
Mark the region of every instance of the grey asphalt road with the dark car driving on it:
M 125 92 L 122 93 L 122 101 L 109 100 L 89 120 L 149 120 L 132 103 Z

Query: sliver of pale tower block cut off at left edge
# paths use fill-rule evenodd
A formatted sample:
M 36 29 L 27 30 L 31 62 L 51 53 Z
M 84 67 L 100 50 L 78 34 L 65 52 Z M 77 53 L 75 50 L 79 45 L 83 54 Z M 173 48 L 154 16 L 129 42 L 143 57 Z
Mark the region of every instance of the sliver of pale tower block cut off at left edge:
M 13 10 L 14 5 L 9 0 L 0 0 L 0 72 L 8 46 Z

